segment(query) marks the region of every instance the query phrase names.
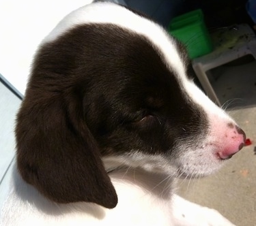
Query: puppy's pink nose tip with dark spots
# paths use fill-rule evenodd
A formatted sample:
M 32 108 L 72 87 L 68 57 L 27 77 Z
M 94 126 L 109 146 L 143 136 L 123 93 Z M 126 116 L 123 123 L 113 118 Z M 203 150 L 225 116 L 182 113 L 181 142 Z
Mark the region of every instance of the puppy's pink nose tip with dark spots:
M 227 129 L 225 130 L 223 147 L 217 152 L 218 157 L 220 159 L 230 159 L 236 152 L 242 149 L 245 140 L 246 135 L 244 131 L 237 125 L 228 123 Z

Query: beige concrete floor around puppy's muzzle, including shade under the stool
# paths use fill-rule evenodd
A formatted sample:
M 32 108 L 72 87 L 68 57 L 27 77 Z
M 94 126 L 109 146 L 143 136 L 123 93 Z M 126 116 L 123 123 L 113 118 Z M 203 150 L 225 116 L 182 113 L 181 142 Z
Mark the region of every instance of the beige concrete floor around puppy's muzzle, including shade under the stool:
M 244 61 L 218 67 L 211 76 L 223 108 L 253 144 L 242 148 L 217 174 L 200 180 L 180 180 L 180 195 L 215 208 L 238 226 L 255 226 L 256 61 Z

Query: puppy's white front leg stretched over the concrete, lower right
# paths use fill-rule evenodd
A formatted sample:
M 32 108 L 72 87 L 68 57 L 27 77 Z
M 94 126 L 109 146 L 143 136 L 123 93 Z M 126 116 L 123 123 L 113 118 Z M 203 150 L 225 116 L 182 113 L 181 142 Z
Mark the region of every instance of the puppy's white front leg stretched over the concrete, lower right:
M 173 195 L 173 217 L 179 226 L 235 226 L 217 210 Z

